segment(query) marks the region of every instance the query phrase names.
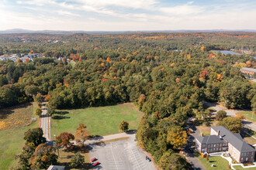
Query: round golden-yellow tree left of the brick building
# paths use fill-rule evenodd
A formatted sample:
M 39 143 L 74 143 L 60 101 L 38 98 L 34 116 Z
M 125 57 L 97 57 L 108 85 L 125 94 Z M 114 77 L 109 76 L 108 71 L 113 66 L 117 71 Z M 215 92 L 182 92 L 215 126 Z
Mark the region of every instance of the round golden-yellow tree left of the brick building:
M 187 144 L 186 138 L 188 138 L 186 131 L 183 131 L 179 126 L 175 126 L 168 131 L 167 142 L 173 148 L 178 149 Z

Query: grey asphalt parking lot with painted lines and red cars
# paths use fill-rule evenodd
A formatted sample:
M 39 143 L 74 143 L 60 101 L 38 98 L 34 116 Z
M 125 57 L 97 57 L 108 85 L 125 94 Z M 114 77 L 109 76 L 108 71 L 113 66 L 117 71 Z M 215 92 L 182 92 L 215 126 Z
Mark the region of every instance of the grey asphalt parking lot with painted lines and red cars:
M 100 165 L 94 169 L 136 169 L 153 170 L 152 162 L 146 160 L 144 151 L 137 148 L 135 134 L 127 140 L 114 141 L 101 145 L 89 145 L 90 158 L 98 158 Z

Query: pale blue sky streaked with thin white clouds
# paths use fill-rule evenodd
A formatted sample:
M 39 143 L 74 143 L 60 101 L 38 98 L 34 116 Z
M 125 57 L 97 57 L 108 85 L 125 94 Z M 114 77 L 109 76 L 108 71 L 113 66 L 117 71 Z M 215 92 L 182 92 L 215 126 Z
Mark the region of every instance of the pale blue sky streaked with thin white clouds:
M 0 30 L 256 29 L 255 0 L 0 0 Z

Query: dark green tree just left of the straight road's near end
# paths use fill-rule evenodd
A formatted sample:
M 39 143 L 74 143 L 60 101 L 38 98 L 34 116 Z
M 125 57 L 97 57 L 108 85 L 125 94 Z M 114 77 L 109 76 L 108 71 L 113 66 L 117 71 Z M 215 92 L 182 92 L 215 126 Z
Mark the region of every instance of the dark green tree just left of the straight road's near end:
M 43 137 L 43 130 L 42 128 L 33 128 L 32 130 L 25 132 L 24 139 L 26 142 L 32 142 L 35 146 L 43 144 L 47 142 L 46 138 Z

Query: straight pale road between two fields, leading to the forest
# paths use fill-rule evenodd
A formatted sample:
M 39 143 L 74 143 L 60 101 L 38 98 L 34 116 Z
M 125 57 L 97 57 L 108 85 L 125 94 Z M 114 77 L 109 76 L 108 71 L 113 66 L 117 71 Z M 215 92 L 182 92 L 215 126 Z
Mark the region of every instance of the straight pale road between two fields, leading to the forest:
M 43 137 L 47 138 L 47 141 L 50 141 L 50 117 L 47 116 L 47 108 L 45 104 L 47 104 L 47 102 L 43 102 L 41 128 L 43 129 Z

